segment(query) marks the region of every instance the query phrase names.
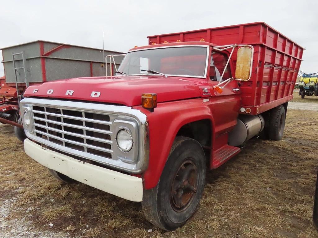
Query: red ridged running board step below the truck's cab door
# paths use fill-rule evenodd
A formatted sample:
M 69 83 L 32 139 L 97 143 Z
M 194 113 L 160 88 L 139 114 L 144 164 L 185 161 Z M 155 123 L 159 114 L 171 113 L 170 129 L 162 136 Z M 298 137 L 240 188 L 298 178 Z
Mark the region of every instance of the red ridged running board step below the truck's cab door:
M 237 155 L 241 149 L 239 147 L 225 145 L 220 149 L 213 151 L 212 169 L 218 168 L 221 164 L 231 159 L 234 155 Z

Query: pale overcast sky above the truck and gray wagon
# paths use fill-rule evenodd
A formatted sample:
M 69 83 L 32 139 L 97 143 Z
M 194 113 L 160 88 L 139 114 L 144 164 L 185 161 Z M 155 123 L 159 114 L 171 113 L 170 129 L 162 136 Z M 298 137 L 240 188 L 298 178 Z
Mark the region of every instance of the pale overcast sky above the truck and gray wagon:
M 306 48 L 302 71 L 318 72 L 318 1 L 0 0 L 0 8 L 0 48 L 34 40 L 102 48 L 105 30 L 105 49 L 127 52 L 150 35 L 263 21 Z

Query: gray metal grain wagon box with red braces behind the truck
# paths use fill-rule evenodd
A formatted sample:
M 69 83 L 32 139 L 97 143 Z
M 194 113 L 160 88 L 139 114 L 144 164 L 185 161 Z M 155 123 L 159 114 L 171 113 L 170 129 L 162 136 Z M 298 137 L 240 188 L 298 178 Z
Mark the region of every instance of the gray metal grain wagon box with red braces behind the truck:
M 123 54 L 48 41 L 33 41 L 5 47 L 1 50 L 6 82 L 16 82 L 14 70 L 16 68 L 17 81 L 27 82 L 26 86 L 28 83 L 41 83 L 56 79 L 105 76 L 105 56 Z M 20 54 L 21 52 L 23 54 Z M 123 57 L 114 57 L 117 66 Z M 107 67 L 107 72 L 109 72 L 109 64 Z M 112 71 L 114 72 L 114 69 Z

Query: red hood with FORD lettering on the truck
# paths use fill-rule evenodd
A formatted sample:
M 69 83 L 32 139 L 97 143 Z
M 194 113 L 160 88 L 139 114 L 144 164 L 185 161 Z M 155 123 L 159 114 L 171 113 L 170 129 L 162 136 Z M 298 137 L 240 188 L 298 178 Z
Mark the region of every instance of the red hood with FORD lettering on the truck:
M 199 87 L 203 85 L 207 85 L 205 80 L 197 78 L 165 78 L 161 76 L 85 77 L 30 86 L 26 89 L 24 96 L 136 106 L 141 104 L 142 93 L 156 93 L 157 102 L 201 97 Z M 47 93 L 49 89 L 53 90 L 52 94 Z M 73 95 L 66 95 L 67 90 L 73 90 Z M 92 97 L 92 92 L 100 92 L 100 96 Z

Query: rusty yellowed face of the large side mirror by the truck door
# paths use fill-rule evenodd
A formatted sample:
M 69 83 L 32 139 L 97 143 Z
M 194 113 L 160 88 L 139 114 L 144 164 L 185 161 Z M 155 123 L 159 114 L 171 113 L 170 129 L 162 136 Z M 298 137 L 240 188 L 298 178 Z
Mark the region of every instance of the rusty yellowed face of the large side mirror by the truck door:
M 241 47 L 238 50 L 235 78 L 248 80 L 251 72 L 252 49 L 249 47 Z

